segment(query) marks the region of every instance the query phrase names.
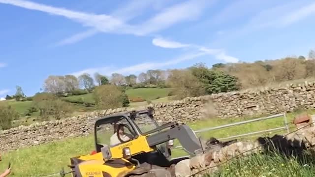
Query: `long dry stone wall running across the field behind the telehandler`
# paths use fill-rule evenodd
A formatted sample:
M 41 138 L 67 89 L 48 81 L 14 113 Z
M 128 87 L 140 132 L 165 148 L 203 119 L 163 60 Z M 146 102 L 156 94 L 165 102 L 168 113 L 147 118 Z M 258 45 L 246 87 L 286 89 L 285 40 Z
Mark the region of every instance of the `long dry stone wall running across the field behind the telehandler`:
M 231 118 L 251 115 L 270 115 L 295 109 L 315 108 L 315 83 L 290 85 L 283 88 L 264 88 L 219 93 L 185 98 L 179 101 L 151 105 L 155 118 L 161 122 L 189 122 L 209 118 L 205 113 L 212 110 L 216 116 Z M 145 109 L 139 107 L 137 109 Z M 36 123 L 0 131 L 0 151 L 29 147 L 63 138 L 86 136 L 93 131 L 95 119 L 100 116 L 130 111 L 130 108 L 95 111 L 88 115 L 56 121 Z

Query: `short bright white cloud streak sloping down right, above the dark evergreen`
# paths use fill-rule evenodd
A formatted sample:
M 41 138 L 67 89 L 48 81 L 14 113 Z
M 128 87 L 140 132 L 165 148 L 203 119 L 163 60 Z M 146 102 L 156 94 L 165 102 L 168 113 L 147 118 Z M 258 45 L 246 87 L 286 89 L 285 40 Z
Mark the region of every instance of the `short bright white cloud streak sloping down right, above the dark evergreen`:
M 172 48 L 172 49 L 174 49 L 174 48 L 193 48 L 193 49 L 196 49 L 196 50 L 203 52 L 205 54 L 213 55 L 216 59 L 220 59 L 220 60 L 223 60 L 225 62 L 238 62 L 239 61 L 238 58 L 226 55 L 223 49 L 210 49 L 210 48 L 195 45 L 195 44 L 183 44 L 180 42 L 163 39 L 161 37 L 153 39 L 152 43 L 153 43 L 153 45 L 156 45 L 156 46 L 162 47 L 162 48 Z

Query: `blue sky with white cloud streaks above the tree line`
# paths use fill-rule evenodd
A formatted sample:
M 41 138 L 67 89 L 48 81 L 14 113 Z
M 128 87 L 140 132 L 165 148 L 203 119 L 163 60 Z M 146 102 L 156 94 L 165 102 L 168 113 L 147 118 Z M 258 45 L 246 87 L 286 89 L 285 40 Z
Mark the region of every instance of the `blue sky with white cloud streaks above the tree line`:
M 0 0 L 0 97 L 49 75 L 307 56 L 314 0 Z

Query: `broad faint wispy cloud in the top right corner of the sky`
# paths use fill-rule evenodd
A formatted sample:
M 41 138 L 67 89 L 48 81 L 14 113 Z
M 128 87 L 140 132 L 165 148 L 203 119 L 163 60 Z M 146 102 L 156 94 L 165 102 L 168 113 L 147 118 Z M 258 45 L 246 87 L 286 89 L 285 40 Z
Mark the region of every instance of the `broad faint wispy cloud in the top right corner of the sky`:
M 250 3 L 247 2 L 248 0 L 241 1 L 243 1 L 244 4 Z M 233 9 L 234 11 L 237 10 L 236 7 L 239 5 L 235 5 L 233 8 L 229 9 L 228 12 L 233 15 Z M 255 11 L 250 10 L 252 15 L 246 18 L 246 21 L 241 26 L 225 29 L 224 35 L 218 35 L 218 38 L 213 40 L 211 45 L 228 44 L 234 39 L 239 40 L 252 32 L 264 29 L 284 29 L 289 25 L 293 25 L 307 17 L 315 15 L 315 2 L 306 3 L 303 0 L 293 0 L 281 3 L 281 1 L 271 2 L 268 0 L 264 2 L 260 8 L 255 6 L 255 9 Z M 233 19 L 233 17 L 231 18 Z

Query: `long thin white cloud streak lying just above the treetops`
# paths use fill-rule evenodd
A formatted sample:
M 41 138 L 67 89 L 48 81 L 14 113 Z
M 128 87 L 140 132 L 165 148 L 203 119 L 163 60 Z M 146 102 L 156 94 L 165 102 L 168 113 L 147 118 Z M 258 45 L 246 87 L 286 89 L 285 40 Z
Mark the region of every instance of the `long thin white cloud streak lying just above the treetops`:
M 175 59 L 169 59 L 166 62 L 144 62 L 144 63 L 139 63 L 131 66 L 126 66 L 123 68 L 117 68 L 114 66 L 110 67 L 98 67 L 98 68 L 89 68 L 85 69 L 82 71 L 77 71 L 74 73 L 71 73 L 75 76 L 79 76 L 83 73 L 89 73 L 89 74 L 94 74 L 95 72 L 104 74 L 104 75 L 110 75 L 112 73 L 120 73 L 120 74 L 136 74 L 139 72 L 147 71 L 149 69 L 160 69 L 162 67 L 166 66 L 171 66 L 175 65 L 184 61 L 188 61 L 191 59 L 196 59 L 198 57 L 207 55 L 205 52 L 196 52 L 196 53 L 190 53 L 190 54 L 185 54 L 182 56 L 179 56 Z

